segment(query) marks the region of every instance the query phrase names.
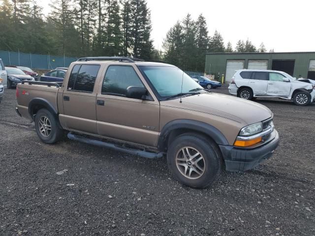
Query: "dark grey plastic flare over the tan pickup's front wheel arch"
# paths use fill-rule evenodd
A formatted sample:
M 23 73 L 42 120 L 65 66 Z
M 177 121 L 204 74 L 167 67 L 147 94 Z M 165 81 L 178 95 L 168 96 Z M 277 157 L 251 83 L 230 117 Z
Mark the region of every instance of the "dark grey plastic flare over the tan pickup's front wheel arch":
M 170 133 L 177 129 L 189 129 L 211 137 L 218 145 L 229 145 L 219 129 L 201 121 L 192 119 L 176 119 L 168 122 L 158 136 L 158 149 L 165 150 Z

